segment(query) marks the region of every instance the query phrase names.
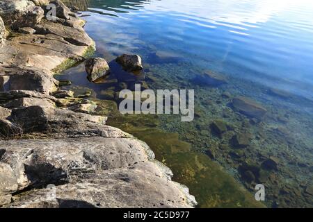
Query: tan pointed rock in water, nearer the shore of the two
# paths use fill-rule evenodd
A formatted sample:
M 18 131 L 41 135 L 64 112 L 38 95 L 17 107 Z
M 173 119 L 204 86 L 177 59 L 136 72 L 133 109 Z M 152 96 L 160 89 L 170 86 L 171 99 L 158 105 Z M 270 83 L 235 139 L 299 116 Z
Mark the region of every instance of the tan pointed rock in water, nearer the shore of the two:
M 85 62 L 85 69 L 90 82 L 110 74 L 110 67 L 104 58 L 89 58 Z

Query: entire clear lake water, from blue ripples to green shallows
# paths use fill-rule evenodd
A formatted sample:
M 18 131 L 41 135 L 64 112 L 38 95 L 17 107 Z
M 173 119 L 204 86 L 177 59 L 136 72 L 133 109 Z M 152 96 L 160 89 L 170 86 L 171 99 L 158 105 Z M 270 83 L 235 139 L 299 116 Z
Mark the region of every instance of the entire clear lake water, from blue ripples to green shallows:
M 89 90 L 89 99 L 105 107 L 134 82 L 150 89 L 195 89 L 192 122 L 172 114 L 122 116 L 117 108 L 103 114 L 112 126 L 147 142 L 173 179 L 190 188 L 198 207 L 260 207 L 254 200 L 260 183 L 267 207 L 313 206 L 310 1 L 67 4 L 90 15 L 83 19 L 97 45 L 95 56 L 113 69 L 99 84 L 88 82 L 83 64 L 58 76 L 71 80 L 77 94 Z M 123 53 L 143 58 L 143 76 L 118 78 L 113 60 Z M 205 81 L 208 72 L 223 84 Z M 237 96 L 264 108 L 264 117 L 239 112 Z

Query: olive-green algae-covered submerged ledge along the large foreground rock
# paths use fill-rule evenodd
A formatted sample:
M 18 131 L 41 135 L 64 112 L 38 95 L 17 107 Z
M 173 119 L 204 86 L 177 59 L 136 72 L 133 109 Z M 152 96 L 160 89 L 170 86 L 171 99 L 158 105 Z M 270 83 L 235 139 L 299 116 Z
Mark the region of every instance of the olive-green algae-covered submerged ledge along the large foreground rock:
M 197 207 L 264 207 L 246 189 L 207 155 L 192 151 L 177 133 L 155 128 L 155 115 L 113 114 L 108 124 L 146 142 L 157 160 L 170 167 L 176 182 L 186 185 L 198 201 Z

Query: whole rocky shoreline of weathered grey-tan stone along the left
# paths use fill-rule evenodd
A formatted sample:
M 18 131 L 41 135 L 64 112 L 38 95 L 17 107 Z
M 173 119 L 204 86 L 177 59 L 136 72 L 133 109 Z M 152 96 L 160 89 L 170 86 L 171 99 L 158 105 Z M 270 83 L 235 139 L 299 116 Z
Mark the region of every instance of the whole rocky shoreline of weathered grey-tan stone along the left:
M 193 207 L 144 142 L 106 117 L 74 112 L 54 72 L 86 60 L 95 43 L 61 1 L 0 3 L 0 207 Z M 6 41 L 5 41 L 6 40 Z

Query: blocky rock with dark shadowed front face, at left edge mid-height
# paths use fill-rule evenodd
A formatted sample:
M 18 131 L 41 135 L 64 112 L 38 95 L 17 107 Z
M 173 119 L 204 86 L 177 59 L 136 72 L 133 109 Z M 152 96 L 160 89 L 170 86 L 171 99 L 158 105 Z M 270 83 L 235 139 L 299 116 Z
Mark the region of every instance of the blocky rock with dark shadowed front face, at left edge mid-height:
M 51 72 L 30 67 L 0 67 L 1 82 L 1 91 L 35 90 L 45 94 L 55 91 L 58 85 Z

